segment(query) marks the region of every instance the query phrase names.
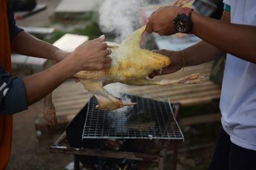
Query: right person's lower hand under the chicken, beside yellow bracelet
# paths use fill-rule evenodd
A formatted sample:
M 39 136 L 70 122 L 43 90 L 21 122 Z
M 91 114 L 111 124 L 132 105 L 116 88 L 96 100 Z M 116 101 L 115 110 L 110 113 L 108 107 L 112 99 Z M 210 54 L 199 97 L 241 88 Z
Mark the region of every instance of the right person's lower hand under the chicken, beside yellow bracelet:
M 167 49 L 154 50 L 153 52 L 168 56 L 170 58 L 170 65 L 166 66 L 165 68 L 153 71 L 149 75 L 149 78 L 154 78 L 156 75 L 171 74 L 182 68 L 182 58 L 180 57 L 179 52 L 169 51 Z

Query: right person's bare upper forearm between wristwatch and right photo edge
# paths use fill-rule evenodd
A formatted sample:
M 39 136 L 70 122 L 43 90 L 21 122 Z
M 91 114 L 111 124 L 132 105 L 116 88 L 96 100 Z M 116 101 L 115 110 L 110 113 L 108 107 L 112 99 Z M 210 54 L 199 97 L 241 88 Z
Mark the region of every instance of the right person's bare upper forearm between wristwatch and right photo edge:
M 192 13 L 193 31 L 204 41 L 256 63 L 256 26 L 230 24 Z

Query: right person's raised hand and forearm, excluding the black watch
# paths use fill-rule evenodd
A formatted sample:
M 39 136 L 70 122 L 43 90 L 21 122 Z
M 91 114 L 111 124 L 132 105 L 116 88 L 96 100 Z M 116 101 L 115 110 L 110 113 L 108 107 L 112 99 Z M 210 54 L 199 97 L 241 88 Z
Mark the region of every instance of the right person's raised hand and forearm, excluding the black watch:
M 179 6 L 165 6 L 156 11 L 149 18 L 146 31 L 158 32 L 160 35 L 172 35 L 177 31 L 173 25 L 173 19 L 182 8 Z M 224 15 L 229 15 L 225 11 Z M 256 63 L 256 26 L 230 24 L 216 19 L 201 16 L 196 12 L 191 15 L 193 28 L 192 34 L 203 39 L 216 48 L 241 59 Z

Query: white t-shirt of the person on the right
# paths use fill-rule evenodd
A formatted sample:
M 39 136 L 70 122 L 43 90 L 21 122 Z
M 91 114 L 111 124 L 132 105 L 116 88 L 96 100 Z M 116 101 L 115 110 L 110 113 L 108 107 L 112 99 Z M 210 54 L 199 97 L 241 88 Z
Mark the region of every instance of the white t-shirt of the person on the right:
M 256 26 L 256 0 L 224 3 L 231 6 L 231 23 Z M 256 64 L 227 55 L 220 108 L 232 143 L 256 151 Z

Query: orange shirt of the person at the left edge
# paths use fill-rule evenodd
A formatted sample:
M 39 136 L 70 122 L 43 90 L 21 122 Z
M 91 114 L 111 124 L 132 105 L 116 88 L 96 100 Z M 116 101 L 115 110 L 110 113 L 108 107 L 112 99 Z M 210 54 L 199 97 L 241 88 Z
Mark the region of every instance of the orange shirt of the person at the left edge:
M 7 0 L 0 0 L 0 63 L 11 72 L 11 47 L 7 16 Z M 11 154 L 12 115 L 0 115 L 0 170 L 5 169 Z

